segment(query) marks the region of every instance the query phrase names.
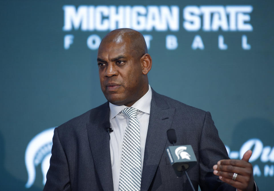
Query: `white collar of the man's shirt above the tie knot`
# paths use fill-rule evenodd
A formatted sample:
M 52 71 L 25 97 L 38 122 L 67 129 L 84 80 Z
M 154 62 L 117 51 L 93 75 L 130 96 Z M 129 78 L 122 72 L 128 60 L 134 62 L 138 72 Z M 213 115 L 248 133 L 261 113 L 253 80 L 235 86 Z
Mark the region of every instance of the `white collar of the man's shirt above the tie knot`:
M 150 103 L 152 98 L 152 91 L 150 85 L 148 85 L 148 92 L 137 100 L 131 107 L 136 108 L 144 113 L 150 114 Z M 110 119 L 114 118 L 118 113 L 120 113 L 124 108 L 127 108 L 125 105 L 114 105 L 109 103 L 110 108 Z

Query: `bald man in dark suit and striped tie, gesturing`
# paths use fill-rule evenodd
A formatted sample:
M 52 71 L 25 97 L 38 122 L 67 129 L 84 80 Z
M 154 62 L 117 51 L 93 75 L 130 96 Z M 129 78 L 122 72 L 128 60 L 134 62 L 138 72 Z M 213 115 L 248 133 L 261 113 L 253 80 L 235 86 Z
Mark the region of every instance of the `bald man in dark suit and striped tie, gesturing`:
M 170 128 L 178 145 L 194 149 L 198 164 L 188 173 L 196 190 L 198 185 L 202 190 L 257 189 L 250 151 L 243 160 L 229 160 L 209 112 L 150 87 L 152 59 L 142 34 L 111 31 L 100 43 L 97 62 L 108 101 L 55 128 L 44 190 L 190 190 L 186 177 L 176 177 L 165 151 Z M 128 110 L 135 112 L 134 120 Z M 126 165 L 132 168 L 125 172 Z

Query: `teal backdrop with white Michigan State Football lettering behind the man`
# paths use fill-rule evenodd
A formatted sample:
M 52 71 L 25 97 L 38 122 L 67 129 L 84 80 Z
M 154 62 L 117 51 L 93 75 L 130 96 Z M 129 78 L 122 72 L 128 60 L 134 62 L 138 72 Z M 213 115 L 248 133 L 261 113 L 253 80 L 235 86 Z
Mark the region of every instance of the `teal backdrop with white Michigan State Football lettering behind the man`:
M 210 111 L 231 158 L 273 190 L 274 1 L 0 2 L 0 190 L 42 190 L 53 127 L 106 102 L 97 48 L 146 37 L 150 86 Z

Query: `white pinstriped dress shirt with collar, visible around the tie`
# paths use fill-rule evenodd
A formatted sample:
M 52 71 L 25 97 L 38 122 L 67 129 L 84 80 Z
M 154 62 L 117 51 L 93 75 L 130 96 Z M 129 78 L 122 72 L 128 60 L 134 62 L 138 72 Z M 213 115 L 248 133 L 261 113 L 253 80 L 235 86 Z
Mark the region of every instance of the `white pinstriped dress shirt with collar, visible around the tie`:
M 149 85 L 148 92 L 136 101 L 131 107 L 138 109 L 137 120 L 140 124 L 140 151 L 141 151 L 141 170 L 143 168 L 144 151 L 146 144 L 146 134 L 148 132 L 148 121 L 150 114 L 152 91 Z M 110 133 L 110 159 L 112 167 L 112 178 L 114 191 L 119 190 L 120 166 L 122 157 L 122 147 L 128 117 L 121 113 L 125 105 L 114 105 L 109 103 L 110 108 L 110 127 L 113 132 Z

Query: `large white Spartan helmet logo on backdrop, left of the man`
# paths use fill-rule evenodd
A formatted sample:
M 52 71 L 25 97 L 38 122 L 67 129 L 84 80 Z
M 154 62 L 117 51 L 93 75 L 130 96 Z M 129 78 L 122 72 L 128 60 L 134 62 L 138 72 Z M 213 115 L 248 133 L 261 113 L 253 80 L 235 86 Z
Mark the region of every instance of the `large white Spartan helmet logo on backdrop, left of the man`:
M 25 164 L 28 171 L 28 182 L 26 188 L 30 188 L 35 181 L 35 168 L 41 163 L 43 184 L 46 184 L 46 174 L 49 170 L 49 159 L 51 158 L 52 137 L 54 128 L 49 128 L 37 134 L 29 142 L 25 152 Z

